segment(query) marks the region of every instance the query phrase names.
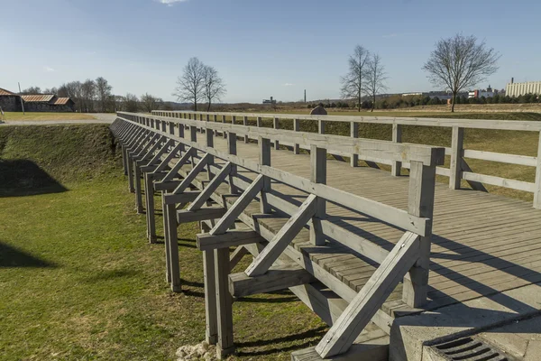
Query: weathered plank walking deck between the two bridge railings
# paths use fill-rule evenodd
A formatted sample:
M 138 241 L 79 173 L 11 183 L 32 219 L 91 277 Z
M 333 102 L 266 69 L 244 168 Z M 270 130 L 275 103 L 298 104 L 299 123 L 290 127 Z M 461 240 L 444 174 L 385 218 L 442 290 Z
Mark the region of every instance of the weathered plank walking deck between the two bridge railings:
M 225 151 L 226 146 L 225 140 L 216 137 L 216 149 Z M 237 152 L 253 161 L 259 156 L 255 143 L 239 142 Z M 273 150 L 271 164 L 309 178 L 309 154 Z M 240 172 L 251 179 L 256 176 Z M 396 208 L 408 208 L 408 177 L 392 177 L 388 171 L 352 168 L 348 163 L 329 160 L 327 184 Z M 272 189 L 297 200 L 298 205 L 307 197 L 283 184 L 273 183 Z M 526 201 L 480 191 L 449 190 L 442 183 L 436 184 L 435 199 L 426 310 L 541 282 L 540 210 Z M 327 213 L 328 220 L 388 250 L 394 245 L 391 242 L 403 235 L 403 230 L 332 204 L 327 205 Z M 278 232 L 287 219 L 269 217 L 262 223 Z M 359 292 L 374 272 L 374 264 L 344 245 L 308 245 L 307 234 L 307 230 L 299 234 L 296 247 L 302 249 L 304 245 L 314 261 Z M 400 292 L 393 292 L 388 301 L 400 297 Z

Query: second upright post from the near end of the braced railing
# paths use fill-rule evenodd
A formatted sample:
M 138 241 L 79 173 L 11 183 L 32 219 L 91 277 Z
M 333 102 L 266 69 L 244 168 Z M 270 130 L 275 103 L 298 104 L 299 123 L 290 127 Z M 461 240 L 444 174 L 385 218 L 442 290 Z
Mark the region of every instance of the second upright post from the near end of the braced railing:
M 326 184 L 326 149 L 310 145 L 310 180 Z M 316 214 L 310 227 L 310 242 L 313 245 L 325 245 L 325 236 L 321 230 L 321 219 L 326 216 L 326 200 L 317 197 Z

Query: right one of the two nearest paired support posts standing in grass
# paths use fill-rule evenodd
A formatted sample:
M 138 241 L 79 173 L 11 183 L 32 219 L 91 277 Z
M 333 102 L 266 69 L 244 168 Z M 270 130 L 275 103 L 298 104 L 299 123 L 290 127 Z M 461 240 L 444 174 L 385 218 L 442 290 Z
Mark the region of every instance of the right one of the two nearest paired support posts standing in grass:
M 218 343 L 216 356 L 224 358 L 234 353 L 233 297 L 229 293 L 229 248 L 215 249 L 215 281 L 217 302 Z

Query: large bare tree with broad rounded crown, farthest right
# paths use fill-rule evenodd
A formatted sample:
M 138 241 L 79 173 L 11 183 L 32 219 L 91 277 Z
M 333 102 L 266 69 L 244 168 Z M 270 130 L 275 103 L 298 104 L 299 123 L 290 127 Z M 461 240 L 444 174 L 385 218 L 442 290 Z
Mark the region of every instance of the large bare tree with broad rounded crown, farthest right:
M 477 42 L 473 35 L 456 34 L 453 38 L 436 42 L 436 49 L 430 54 L 423 69 L 428 79 L 436 86 L 449 88 L 456 95 L 464 88 L 474 87 L 494 74 L 500 54 L 487 48 L 485 42 Z

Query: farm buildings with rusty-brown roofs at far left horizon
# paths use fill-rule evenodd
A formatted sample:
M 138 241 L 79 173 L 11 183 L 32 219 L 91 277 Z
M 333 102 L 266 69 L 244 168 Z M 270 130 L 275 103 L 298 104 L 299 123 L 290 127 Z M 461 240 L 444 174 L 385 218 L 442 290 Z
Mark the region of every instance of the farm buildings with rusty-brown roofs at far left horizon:
M 69 97 L 53 94 L 19 95 L 0 88 L 0 107 L 5 112 L 73 112 L 75 103 Z

